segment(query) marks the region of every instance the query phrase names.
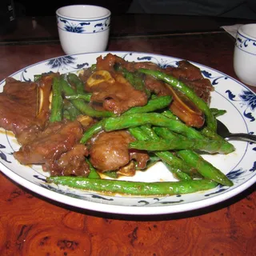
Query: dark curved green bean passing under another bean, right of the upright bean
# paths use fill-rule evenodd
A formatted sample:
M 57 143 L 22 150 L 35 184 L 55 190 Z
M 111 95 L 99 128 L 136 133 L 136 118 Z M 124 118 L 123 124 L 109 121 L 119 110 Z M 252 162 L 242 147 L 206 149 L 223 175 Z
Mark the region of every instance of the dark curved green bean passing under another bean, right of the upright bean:
M 71 88 L 69 83 L 65 80 L 65 78 L 62 76 L 61 78 L 62 83 L 62 90 L 66 94 L 66 96 L 74 95 L 75 91 Z M 107 118 L 114 116 L 114 113 L 110 111 L 98 111 L 94 110 L 89 104 L 82 101 L 82 99 L 73 99 L 70 100 L 70 102 L 80 111 L 82 114 L 89 115 L 90 117 L 94 118 Z

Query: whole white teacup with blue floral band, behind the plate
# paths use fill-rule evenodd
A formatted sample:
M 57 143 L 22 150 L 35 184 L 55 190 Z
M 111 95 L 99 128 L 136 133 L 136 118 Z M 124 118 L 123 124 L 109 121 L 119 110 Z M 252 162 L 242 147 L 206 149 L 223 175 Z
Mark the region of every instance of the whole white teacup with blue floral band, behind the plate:
M 106 50 L 110 15 L 102 6 L 74 5 L 56 10 L 62 50 L 68 55 Z

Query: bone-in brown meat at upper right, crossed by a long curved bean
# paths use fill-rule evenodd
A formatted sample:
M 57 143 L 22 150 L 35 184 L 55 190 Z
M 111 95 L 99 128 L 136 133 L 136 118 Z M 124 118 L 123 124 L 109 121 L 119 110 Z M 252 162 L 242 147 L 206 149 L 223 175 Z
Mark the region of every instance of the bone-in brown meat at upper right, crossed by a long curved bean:
M 210 92 L 214 90 L 214 87 L 209 79 L 202 77 L 201 70 L 198 67 L 190 62 L 181 61 L 178 62 L 178 67 L 167 67 L 166 70 L 162 71 L 178 78 L 186 86 L 194 90 L 198 97 L 202 98 L 206 103 L 210 103 Z M 148 90 L 159 96 L 172 95 L 173 101 L 170 103 L 170 110 L 186 125 L 197 128 L 203 126 L 205 118 L 202 111 L 184 94 L 148 75 L 145 78 L 145 85 Z

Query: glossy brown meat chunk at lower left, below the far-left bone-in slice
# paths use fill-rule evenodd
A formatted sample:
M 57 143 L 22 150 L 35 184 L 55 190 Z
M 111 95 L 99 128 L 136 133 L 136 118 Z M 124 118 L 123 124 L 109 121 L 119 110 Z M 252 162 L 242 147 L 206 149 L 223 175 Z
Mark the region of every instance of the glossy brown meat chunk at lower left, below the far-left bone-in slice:
M 82 134 L 78 121 L 50 123 L 37 138 L 14 152 L 14 158 L 23 165 L 42 164 L 52 175 L 88 174 L 84 158 L 88 152 L 79 144 Z

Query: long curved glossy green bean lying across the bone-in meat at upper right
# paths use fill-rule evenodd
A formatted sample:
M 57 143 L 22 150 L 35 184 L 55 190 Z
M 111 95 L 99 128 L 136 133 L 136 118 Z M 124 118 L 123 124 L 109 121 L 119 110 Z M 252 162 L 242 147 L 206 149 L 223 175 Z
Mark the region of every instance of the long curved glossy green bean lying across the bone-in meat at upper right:
M 216 122 L 216 119 L 214 118 L 214 115 L 210 111 L 210 108 L 207 105 L 207 103 L 204 102 L 202 98 L 198 97 L 198 95 L 194 93 L 194 90 L 190 89 L 190 87 L 186 86 L 186 84 L 179 81 L 177 78 L 174 78 L 168 74 L 162 73 L 158 70 L 139 69 L 138 72 L 141 72 L 143 74 L 149 74 L 154 78 L 160 79 L 163 82 L 166 82 L 166 84 L 180 90 L 183 94 L 186 95 L 187 98 L 190 98 L 190 100 L 194 102 L 194 104 L 198 106 L 198 108 L 202 110 L 202 112 L 205 114 L 206 126 L 208 126 L 210 130 L 216 131 L 217 122 Z

